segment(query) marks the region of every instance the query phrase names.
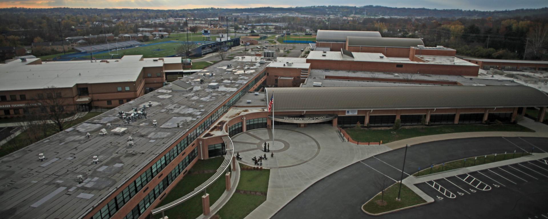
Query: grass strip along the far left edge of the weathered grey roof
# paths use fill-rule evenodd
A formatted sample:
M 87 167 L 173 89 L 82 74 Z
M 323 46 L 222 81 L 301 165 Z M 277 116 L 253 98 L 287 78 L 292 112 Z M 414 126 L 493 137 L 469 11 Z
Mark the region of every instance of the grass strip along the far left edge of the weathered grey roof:
M 89 112 L 88 114 L 86 114 L 85 116 L 83 116 L 81 118 L 78 118 L 78 119 L 72 120 L 71 122 L 68 122 L 66 128 L 70 128 L 70 127 L 75 126 L 77 124 L 83 123 L 83 122 L 85 122 L 85 120 L 88 120 L 92 117 L 98 116 L 99 114 L 101 114 L 101 112 Z M 58 131 L 56 131 L 55 128 L 52 128 L 52 130 L 50 130 L 47 133 L 46 136 L 39 136 L 38 140 L 35 140 L 36 137 L 30 137 L 31 135 L 35 136 L 36 135 L 35 133 L 31 133 L 29 131 L 23 131 L 18 136 L 15 136 L 14 139 L 9 140 L 2 147 L 0 147 L 0 157 L 4 157 L 5 155 L 7 155 L 9 153 L 17 151 L 17 150 L 19 150 L 21 148 L 24 148 L 26 146 L 29 146 L 34 142 L 37 142 L 39 140 L 45 139 L 46 137 L 52 136 L 52 135 L 56 134 L 57 132 Z

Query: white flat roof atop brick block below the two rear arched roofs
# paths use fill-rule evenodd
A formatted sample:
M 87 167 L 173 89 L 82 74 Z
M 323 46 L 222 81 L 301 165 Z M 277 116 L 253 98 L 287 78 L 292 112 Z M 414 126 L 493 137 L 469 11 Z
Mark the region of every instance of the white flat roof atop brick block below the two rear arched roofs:
M 382 53 L 351 53 L 354 57 L 343 55 L 340 51 L 310 51 L 307 59 L 477 66 L 476 64 L 453 56 L 416 55 L 425 61 L 418 62 L 411 61 L 405 57 L 386 57 Z

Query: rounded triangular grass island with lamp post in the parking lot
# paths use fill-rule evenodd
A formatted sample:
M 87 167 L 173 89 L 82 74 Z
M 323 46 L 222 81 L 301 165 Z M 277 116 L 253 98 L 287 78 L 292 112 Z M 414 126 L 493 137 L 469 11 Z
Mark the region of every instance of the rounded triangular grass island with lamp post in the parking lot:
M 387 188 L 384 192 L 384 201 L 386 201 L 386 205 L 381 206 L 376 203 L 376 200 L 381 200 L 381 194 L 378 194 L 375 195 L 375 197 L 368 201 L 365 205 L 363 205 L 362 209 L 371 214 L 379 214 L 386 211 L 392 211 L 396 209 L 406 208 L 408 206 L 426 203 L 423 198 L 420 198 L 418 194 L 414 193 L 406 185 L 402 185 L 402 192 L 399 195 L 401 200 L 396 201 L 396 198 L 398 197 L 398 191 L 399 183 L 395 183 L 391 187 Z

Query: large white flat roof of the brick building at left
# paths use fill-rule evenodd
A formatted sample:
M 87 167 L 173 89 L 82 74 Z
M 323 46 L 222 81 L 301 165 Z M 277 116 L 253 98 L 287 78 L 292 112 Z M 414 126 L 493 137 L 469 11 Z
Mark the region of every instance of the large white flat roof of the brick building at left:
M 165 62 L 181 62 L 181 57 L 153 61 L 142 60 L 142 55 L 126 55 L 119 60 L 100 62 L 94 60 L 53 61 L 29 64 L 14 60 L 0 66 L 0 91 L 43 89 L 47 87 L 71 88 L 76 84 L 134 82 L 144 67 L 162 67 Z

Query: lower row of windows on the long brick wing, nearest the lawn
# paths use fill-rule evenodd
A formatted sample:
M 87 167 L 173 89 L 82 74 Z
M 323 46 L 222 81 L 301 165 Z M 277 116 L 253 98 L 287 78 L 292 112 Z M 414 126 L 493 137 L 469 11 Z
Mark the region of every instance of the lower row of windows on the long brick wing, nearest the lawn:
M 167 188 L 173 181 L 175 181 L 175 178 L 177 178 L 179 175 L 181 175 L 182 171 L 189 166 L 189 164 L 194 160 L 198 155 L 198 148 L 194 148 L 190 154 L 179 163 L 179 165 L 175 166 L 175 168 L 169 172 L 169 174 L 162 180 L 162 182 L 158 183 L 154 189 L 152 189 L 149 194 L 143 198 L 138 205 L 133 208 L 131 212 L 129 212 L 128 215 L 124 217 L 124 219 L 135 219 L 139 218 L 147 208 L 165 191 L 165 188 Z

